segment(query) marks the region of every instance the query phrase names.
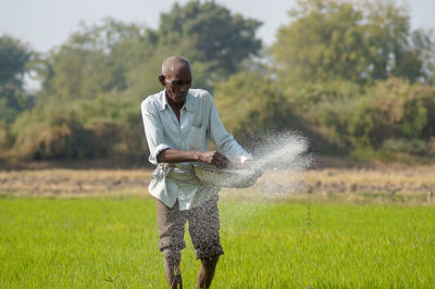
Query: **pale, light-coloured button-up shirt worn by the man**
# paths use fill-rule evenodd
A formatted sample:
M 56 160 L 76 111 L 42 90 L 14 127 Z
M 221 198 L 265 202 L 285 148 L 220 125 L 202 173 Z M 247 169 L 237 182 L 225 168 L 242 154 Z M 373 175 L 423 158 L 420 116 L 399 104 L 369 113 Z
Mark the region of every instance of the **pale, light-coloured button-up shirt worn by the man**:
M 165 149 L 184 151 L 209 151 L 209 139 L 216 150 L 232 162 L 252 160 L 232 135 L 226 133 L 219 117 L 213 97 L 202 89 L 190 89 L 181 111 L 179 123 L 167 103 L 165 90 L 149 96 L 140 104 L 145 134 L 150 151 L 149 161 L 158 165 L 148 187 L 150 193 L 172 208 L 178 199 L 179 210 L 198 206 L 220 188 L 175 180 L 167 176 L 157 156 Z M 190 163 L 175 164 L 179 168 L 191 169 Z M 167 171 L 167 169 L 166 169 Z

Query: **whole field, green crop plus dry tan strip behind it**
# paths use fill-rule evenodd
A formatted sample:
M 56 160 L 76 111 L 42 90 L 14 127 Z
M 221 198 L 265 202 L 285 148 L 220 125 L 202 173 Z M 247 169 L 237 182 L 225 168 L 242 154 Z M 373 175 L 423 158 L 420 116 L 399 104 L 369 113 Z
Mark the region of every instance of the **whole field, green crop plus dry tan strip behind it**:
M 0 172 L 0 288 L 165 288 L 149 173 Z M 435 288 L 434 181 L 432 167 L 322 169 L 223 190 L 212 288 Z

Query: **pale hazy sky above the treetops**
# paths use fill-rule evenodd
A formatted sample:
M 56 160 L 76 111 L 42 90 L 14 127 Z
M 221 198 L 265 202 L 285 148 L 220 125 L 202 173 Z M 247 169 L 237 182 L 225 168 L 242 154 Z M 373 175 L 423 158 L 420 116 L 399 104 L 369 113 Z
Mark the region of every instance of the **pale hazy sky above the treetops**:
M 91 24 L 112 16 L 124 22 L 145 23 L 157 28 L 160 13 L 171 10 L 175 0 L 0 0 L 0 35 L 8 34 L 39 52 L 66 41 L 78 23 Z M 186 3 L 188 0 L 178 0 Z M 281 25 L 288 24 L 287 12 L 297 0 L 216 0 L 231 11 L 263 22 L 258 36 L 265 45 L 274 42 Z M 402 1 L 401 1 L 402 2 Z M 435 28 L 435 0 L 408 0 L 411 27 Z

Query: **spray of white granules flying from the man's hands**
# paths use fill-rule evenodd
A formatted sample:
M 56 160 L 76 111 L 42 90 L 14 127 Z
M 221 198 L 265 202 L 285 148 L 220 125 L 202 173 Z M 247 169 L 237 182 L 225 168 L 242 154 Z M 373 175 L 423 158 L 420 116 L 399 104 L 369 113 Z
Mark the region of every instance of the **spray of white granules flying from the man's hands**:
M 254 158 L 253 171 L 261 171 L 263 175 L 253 188 L 225 189 L 221 192 L 227 198 L 238 200 L 224 206 L 221 214 L 224 227 L 244 224 L 250 217 L 273 210 L 272 203 L 287 200 L 294 193 L 304 190 L 299 175 L 313 163 L 313 156 L 308 152 L 307 138 L 297 133 L 269 134 L 261 141 L 254 141 L 252 147 L 250 151 Z M 210 175 L 207 178 L 217 176 L 212 183 L 234 188 L 236 184 L 249 183 L 251 172 L 226 169 L 224 178 L 219 175 Z M 310 213 L 308 215 L 311 216 Z

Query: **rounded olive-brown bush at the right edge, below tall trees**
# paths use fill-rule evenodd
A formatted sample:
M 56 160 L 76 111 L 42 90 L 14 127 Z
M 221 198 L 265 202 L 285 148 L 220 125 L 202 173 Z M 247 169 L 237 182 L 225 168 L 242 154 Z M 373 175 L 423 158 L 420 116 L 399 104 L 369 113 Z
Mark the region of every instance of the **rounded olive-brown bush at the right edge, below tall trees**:
M 352 111 L 353 147 L 380 149 L 390 139 L 427 142 L 435 133 L 435 88 L 397 78 L 380 81 Z

